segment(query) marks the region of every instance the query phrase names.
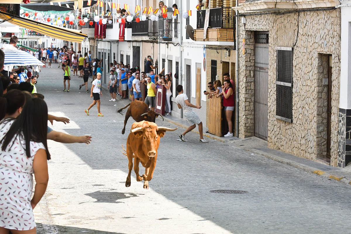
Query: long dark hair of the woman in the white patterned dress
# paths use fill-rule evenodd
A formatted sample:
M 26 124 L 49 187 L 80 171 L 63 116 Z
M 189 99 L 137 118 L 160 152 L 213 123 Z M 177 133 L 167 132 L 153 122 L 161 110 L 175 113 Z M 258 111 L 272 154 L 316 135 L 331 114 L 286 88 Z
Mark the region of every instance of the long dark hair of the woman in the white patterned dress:
M 26 101 L 22 113 L 14 120 L 10 129 L 0 141 L 2 151 L 5 151 L 12 139 L 18 135 L 23 135 L 25 139 L 24 148 L 28 158 L 31 157 L 31 141 L 43 143 L 47 159 L 51 158 L 47 148 L 47 106 L 44 100 L 33 98 Z

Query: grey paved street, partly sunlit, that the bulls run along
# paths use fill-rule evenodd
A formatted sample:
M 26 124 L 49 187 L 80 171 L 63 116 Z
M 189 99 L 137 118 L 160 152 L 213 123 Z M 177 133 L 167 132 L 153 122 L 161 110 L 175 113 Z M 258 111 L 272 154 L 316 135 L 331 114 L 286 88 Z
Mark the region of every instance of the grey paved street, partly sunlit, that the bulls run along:
M 68 116 L 69 125 L 53 128 L 69 134 L 91 134 L 91 145 L 49 141 L 49 185 L 35 211 L 38 233 L 350 233 L 351 187 L 322 178 L 216 140 L 176 141 L 183 129 L 161 139 L 150 189 L 135 180 L 125 187 L 127 133 L 125 102 L 109 102 L 104 91 L 101 112 L 78 90 L 82 78 L 72 76 L 62 92 L 63 74 L 43 68 L 38 93 L 48 109 Z M 91 84 L 91 83 L 89 83 Z M 114 106 L 117 105 L 117 106 Z M 205 116 L 201 117 L 205 119 Z M 132 124 L 130 120 L 127 128 Z M 175 127 L 157 119 L 159 126 Z M 253 146 L 254 147 L 254 146 Z M 246 194 L 211 193 L 244 190 Z

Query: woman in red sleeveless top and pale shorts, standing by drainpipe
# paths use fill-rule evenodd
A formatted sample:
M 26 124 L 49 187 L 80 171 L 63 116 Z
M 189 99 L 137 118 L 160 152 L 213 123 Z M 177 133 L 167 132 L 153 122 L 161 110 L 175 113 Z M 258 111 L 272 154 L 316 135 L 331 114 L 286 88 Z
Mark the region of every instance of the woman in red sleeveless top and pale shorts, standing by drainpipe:
M 233 136 L 233 123 L 232 123 L 232 115 L 234 111 L 235 101 L 234 101 L 234 92 L 232 83 L 230 80 L 224 81 L 224 89 L 222 89 L 223 94 L 223 106 L 225 111 L 225 116 L 228 122 L 229 132 L 224 135 L 224 137 L 231 137 Z

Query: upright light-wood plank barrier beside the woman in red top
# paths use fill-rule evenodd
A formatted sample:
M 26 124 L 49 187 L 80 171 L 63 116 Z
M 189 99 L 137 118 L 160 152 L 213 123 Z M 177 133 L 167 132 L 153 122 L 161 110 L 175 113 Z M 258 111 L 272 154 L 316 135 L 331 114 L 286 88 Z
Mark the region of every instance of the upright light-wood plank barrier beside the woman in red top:
M 222 98 L 210 98 L 208 112 L 208 132 L 222 136 Z

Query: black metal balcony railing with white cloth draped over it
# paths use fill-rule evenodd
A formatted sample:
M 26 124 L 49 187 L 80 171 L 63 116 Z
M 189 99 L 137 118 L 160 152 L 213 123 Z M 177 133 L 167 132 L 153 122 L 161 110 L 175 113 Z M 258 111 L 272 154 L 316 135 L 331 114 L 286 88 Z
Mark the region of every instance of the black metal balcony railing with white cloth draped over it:
M 211 8 L 208 28 L 234 28 L 234 9 L 230 7 Z M 206 10 L 197 11 L 196 28 L 204 28 Z

